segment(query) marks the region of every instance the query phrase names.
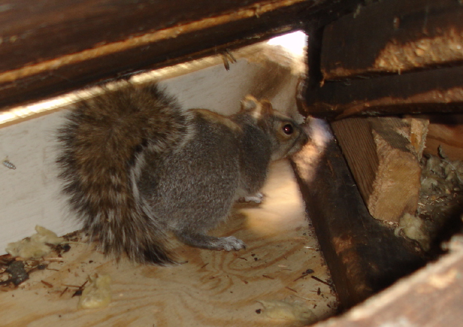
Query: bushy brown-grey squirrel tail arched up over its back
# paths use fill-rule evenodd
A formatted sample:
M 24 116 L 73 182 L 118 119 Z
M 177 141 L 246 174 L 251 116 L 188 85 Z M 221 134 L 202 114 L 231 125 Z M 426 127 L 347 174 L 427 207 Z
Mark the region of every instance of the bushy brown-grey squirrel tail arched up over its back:
M 140 197 L 137 178 L 143 150 L 161 153 L 180 142 L 187 120 L 155 84 L 125 82 L 76 104 L 58 131 L 63 192 L 105 253 L 125 252 L 142 263 L 174 262 L 165 247 L 166 228 Z

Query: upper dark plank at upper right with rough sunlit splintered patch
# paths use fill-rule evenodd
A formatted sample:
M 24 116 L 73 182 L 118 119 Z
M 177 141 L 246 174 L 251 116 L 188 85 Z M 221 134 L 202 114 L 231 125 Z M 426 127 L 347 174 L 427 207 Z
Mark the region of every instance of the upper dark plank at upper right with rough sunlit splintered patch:
M 463 6 L 391 0 L 359 7 L 324 29 L 324 80 L 399 73 L 463 61 Z

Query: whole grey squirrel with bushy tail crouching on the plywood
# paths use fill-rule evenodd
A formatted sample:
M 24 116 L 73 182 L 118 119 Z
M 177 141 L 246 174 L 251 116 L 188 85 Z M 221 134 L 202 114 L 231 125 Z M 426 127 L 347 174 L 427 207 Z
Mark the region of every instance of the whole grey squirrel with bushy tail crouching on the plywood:
M 140 263 L 175 263 L 167 235 L 212 250 L 239 250 L 237 238 L 206 233 L 232 204 L 255 195 L 269 163 L 309 140 L 268 101 L 247 96 L 238 113 L 182 110 L 157 83 L 81 100 L 58 130 L 63 193 L 101 250 Z

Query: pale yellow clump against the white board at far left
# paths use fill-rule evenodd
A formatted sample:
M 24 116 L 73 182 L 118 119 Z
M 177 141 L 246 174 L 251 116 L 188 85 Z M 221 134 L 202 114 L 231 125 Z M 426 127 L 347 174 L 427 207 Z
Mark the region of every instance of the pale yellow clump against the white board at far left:
M 58 245 L 64 242 L 62 237 L 58 237 L 45 227 L 36 226 L 37 233 L 18 242 L 9 243 L 6 252 L 14 257 L 23 259 L 39 258 L 51 252 L 52 248 L 48 245 Z

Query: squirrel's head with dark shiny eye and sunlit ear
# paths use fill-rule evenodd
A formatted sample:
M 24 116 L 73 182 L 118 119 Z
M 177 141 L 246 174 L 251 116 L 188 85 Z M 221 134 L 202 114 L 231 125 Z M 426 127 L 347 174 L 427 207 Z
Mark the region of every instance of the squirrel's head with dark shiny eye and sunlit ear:
M 305 130 L 291 117 L 273 109 L 268 100 L 257 100 L 247 95 L 241 102 L 241 112 L 255 120 L 266 132 L 272 144 L 272 160 L 278 160 L 299 151 L 309 141 Z

